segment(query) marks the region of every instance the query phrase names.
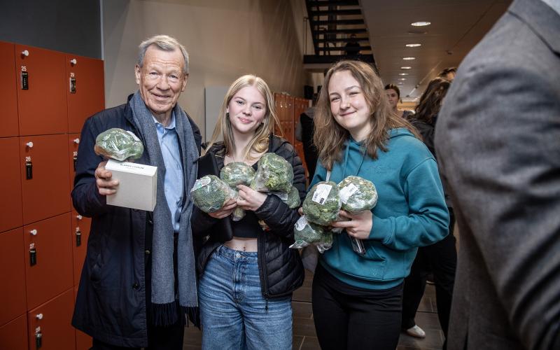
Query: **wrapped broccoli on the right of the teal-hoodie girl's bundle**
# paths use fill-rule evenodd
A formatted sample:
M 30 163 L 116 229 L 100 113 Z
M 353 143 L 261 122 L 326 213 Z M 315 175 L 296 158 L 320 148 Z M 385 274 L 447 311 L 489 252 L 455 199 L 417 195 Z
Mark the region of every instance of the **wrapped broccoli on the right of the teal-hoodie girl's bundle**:
M 377 204 L 377 190 L 374 184 L 359 176 L 348 176 L 338 184 L 342 210 L 350 214 L 371 210 Z

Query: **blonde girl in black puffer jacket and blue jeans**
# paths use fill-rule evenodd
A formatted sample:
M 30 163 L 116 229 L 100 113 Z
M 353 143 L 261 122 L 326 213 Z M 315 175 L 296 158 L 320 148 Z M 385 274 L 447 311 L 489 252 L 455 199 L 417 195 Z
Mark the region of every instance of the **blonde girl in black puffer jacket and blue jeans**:
M 273 136 L 276 123 L 265 81 L 241 76 L 225 96 L 204 157 L 214 159 L 218 172 L 231 162 L 256 170 L 263 154 L 276 153 L 292 165 L 293 186 L 304 200 L 302 163 L 288 141 Z M 300 215 L 276 195 L 237 187 L 237 200 L 211 214 L 193 214 L 193 234 L 207 237 L 197 259 L 202 349 L 291 349 L 291 295 L 304 272 L 289 246 Z M 230 218 L 236 207 L 246 210 L 240 221 Z M 230 237 L 224 237 L 224 225 Z

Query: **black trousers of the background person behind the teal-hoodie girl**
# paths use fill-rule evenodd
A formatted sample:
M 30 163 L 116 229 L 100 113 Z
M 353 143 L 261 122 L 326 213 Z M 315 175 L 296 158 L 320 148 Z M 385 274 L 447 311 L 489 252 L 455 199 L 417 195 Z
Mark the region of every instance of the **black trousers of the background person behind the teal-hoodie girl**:
M 402 297 L 402 328 L 408 329 L 416 324 L 414 316 L 426 288 L 426 276 L 433 272 L 437 316 L 446 338 L 457 267 L 456 239 L 453 235 L 455 216 L 451 208 L 449 216 L 449 235 L 435 244 L 418 249 L 410 274 L 405 279 Z

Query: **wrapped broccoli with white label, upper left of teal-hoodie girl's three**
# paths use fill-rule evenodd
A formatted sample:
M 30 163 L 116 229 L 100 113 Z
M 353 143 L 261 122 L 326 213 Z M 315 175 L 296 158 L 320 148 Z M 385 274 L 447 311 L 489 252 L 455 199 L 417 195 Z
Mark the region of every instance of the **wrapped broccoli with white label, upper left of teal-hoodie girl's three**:
M 337 219 L 340 206 L 337 184 L 321 181 L 307 193 L 303 201 L 303 214 L 311 223 L 328 226 Z

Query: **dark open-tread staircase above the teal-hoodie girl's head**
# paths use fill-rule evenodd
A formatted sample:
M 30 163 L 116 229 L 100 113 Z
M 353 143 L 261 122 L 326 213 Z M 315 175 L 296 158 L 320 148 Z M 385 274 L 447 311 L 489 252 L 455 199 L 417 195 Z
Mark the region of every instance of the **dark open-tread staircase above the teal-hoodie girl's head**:
M 358 0 L 306 0 L 305 3 L 315 50 L 315 55 L 303 57 L 306 69 L 322 71 L 340 59 L 359 59 L 377 70 Z

